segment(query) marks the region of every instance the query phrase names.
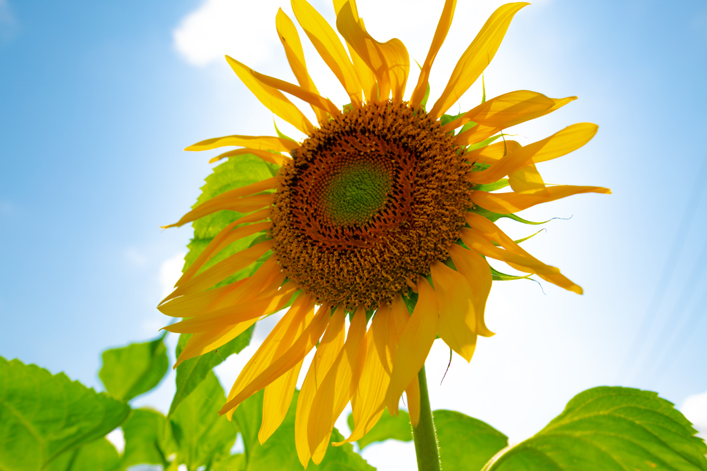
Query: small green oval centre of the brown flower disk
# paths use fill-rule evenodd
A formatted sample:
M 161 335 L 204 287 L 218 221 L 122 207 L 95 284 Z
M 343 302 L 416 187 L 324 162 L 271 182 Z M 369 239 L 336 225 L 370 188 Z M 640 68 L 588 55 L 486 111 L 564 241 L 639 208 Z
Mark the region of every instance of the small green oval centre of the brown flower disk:
M 324 191 L 324 210 L 339 226 L 362 225 L 385 205 L 391 181 L 385 167 L 349 164 L 334 173 Z

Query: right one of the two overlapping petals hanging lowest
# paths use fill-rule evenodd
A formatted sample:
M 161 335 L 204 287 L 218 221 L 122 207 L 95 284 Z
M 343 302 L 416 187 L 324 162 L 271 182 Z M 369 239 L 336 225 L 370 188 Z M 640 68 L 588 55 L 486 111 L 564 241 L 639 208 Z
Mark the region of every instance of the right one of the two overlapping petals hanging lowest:
M 313 450 L 312 461 L 319 464 L 329 445 L 334 422 L 346 407 L 361 378 L 366 360 L 366 309 L 358 308 L 349 326 L 344 348 L 334 360 L 317 390 L 307 424 L 307 442 Z

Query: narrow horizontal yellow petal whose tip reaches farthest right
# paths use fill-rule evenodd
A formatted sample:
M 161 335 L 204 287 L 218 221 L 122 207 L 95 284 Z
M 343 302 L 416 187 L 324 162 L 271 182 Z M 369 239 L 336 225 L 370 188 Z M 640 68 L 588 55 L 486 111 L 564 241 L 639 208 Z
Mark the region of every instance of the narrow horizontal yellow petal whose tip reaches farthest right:
M 601 186 L 549 186 L 547 189 L 526 191 L 523 193 L 489 193 L 487 191 L 472 191 L 472 202 L 493 213 L 510 214 L 531 208 L 540 203 L 559 200 L 580 193 L 611 194 L 608 188 Z

